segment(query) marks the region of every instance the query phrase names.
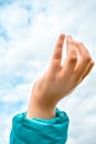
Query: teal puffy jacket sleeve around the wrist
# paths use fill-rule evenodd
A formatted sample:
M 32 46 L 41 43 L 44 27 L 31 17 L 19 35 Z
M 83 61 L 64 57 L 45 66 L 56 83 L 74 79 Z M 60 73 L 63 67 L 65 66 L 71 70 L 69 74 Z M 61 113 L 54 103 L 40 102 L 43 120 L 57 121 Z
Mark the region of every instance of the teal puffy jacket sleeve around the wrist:
M 50 120 L 29 120 L 26 113 L 21 113 L 12 120 L 10 144 L 65 144 L 67 128 L 68 116 L 58 109 Z

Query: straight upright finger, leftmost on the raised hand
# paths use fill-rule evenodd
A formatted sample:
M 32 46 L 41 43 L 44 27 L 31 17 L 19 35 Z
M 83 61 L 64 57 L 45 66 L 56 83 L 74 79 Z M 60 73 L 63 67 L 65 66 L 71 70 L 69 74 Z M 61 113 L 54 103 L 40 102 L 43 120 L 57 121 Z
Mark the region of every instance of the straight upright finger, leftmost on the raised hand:
M 57 70 L 61 65 L 64 39 L 65 39 L 65 35 L 61 34 L 55 45 L 52 61 L 51 61 L 51 68 L 53 70 Z

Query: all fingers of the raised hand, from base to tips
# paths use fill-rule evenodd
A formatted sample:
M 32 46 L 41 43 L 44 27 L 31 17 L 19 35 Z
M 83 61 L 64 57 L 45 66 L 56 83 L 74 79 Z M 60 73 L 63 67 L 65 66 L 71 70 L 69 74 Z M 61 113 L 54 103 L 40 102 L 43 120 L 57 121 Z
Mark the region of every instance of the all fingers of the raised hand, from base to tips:
M 53 72 L 61 68 L 64 40 L 65 35 L 61 34 L 55 45 L 51 61 Z M 67 35 L 66 60 L 62 66 L 62 74 L 65 75 L 66 73 L 66 75 L 73 78 L 74 82 L 78 83 L 90 72 L 93 65 L 94 62 L 85 45 Z

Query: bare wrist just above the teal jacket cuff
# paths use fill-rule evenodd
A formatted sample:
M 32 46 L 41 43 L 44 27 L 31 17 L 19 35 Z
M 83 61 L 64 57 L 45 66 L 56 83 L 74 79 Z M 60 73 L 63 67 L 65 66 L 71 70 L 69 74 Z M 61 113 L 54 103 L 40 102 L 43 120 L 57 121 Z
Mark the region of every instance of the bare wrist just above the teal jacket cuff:
M 50 104 L 41 103 L 35 96 L 31 96 L 26 117 L 41 117 L 41 119 L 52 119 L 55 116 L 55 106 Z

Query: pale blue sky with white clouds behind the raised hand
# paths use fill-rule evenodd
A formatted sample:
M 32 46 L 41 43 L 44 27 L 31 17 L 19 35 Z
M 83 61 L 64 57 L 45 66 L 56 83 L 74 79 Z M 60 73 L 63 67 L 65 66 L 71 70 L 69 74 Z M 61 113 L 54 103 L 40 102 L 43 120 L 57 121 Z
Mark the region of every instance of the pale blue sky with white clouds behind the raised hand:
M 26 111 L 60 33 L 85 43 L 96 61 L 95 0 L 0 0 L 0 144 L 13 115 Z M 70 116 L 66 144 L 96 144 L 96 68 L 58 107 Z

